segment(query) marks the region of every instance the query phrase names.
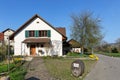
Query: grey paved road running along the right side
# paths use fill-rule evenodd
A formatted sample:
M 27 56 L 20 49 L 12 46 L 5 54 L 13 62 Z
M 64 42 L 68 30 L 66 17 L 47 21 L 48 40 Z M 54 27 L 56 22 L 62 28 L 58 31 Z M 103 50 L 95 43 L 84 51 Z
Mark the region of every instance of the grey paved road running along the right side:
M 85 80 L 120 80 L 120 58 L 97 56 L 99 61 Z

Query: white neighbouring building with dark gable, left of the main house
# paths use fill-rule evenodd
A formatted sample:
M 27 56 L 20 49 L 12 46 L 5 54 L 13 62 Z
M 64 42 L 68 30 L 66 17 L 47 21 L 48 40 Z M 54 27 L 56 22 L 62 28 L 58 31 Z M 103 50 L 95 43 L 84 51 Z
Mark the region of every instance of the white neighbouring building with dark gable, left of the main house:
M 6 45 L 8 45 L 8 39 L 9 39 L 9 37 L 14 33 L 15 31 L 14 30 L 12 30 L 12 29 L 10 29 L 10 28 L 8 28 L 8 29 L 6 29 L 6 30 L 4 30 L 2 33 L 4 34 L 4 43 L 6 44 Z M 10 45 L 11 46 L 14 46 L 14 42 L 13 42 L 13 40 L 10 40 Z

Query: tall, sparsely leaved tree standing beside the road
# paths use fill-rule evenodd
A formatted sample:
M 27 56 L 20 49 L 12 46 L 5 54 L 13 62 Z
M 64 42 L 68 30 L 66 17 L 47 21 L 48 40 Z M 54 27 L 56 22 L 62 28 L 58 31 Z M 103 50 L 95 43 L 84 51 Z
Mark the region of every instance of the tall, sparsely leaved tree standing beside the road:
M 93 18 L 91 12 L 83 12 L 71 16 L 73 22 L 71 37 L 81 44 L 82 53 L 84 48 L 92 49 L 102 39 L 100 20 Z

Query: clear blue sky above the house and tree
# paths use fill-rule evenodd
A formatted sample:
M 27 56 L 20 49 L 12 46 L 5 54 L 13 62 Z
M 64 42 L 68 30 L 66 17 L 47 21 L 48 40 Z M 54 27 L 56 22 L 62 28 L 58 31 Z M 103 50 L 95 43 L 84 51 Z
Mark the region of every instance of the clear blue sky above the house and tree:
M 120 38 L 120 0 L 0 0 L 0 31 L 18 29 L 34 14 L 56 27 L 66 27 L 70 39 L 70 15 L 92 11 L 101 19 L 104 40 Z

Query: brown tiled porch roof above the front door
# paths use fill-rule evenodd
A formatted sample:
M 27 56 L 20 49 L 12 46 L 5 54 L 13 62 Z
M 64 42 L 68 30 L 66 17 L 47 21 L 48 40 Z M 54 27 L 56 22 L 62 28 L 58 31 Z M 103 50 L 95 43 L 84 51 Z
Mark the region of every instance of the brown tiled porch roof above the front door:
M 23 43 L 49 43 L 49 38 L 27 38 Z

